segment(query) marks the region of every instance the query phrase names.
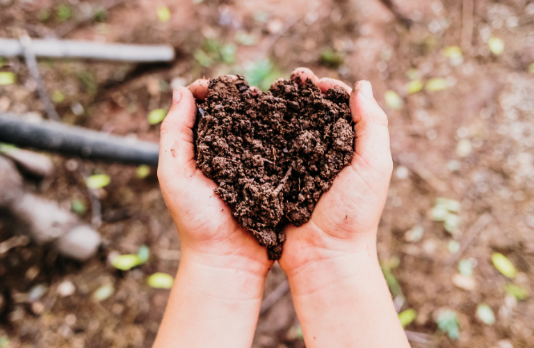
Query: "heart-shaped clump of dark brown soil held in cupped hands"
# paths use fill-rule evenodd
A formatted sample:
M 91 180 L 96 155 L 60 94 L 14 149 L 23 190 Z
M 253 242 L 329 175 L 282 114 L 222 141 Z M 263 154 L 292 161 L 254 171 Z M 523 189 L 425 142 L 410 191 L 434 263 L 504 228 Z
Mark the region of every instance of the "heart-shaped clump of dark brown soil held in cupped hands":
M 287 223 L 306 223 L 353 158 L 354 132 L 342 88 L 277 81 L 257 95 L 244 77 L 218 77 L 199 105 L 197 166 L 219 187 L 238 223 L 282 255 Z

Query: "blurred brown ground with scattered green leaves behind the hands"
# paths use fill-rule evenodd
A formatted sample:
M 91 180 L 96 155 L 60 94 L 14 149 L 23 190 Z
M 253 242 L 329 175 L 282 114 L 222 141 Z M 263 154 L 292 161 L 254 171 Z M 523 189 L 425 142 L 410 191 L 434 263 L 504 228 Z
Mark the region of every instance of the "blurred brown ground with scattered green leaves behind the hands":
M 0 0 L 0 24 L 26 42 L 0 58 L 0 114 L 129 140 L 157 142 L 201 77 L 368 79 L 395 165 L 379 257 L 413 347 L 533 347 L 532 1 Z M 174 57 L 35 65 L 28 37 Z M 0 348 L 152 345 L 180 260 L 156 167 L 0 153 Z M 304 347 L 277 265 L 264 296 L 253 347 Z

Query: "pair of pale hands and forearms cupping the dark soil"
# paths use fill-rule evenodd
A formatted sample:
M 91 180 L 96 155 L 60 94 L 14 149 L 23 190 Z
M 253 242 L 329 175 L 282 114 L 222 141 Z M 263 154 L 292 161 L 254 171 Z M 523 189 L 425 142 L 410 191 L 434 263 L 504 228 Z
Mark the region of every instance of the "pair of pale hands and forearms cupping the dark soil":
M 392 162 L 387 117 L 371 84 L 350 88 L 318 79 L 323 93 L 350 94 L 355 155 L 321 196 L 312 218 L 287 226 L 280 267 L 286 272 L 306 347 L 410 347 L 398 321 L 376 252 L 378 222 Z M 181 241 L 181 261 L 154 347 L 250 347 L 265 277 L 273 265 L 195 166 L 192 127 L 208 81 L 177 88 L 161 125 L 158 177 Z

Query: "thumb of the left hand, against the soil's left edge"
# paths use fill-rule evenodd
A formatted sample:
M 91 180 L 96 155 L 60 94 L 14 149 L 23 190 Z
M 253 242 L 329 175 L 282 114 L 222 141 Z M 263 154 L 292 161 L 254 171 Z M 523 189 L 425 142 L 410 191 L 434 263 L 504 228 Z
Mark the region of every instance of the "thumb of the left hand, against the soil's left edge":
M 195 171 L 195 145 L 193 127 L 197 115 L 197 104 L 186 87 L 172 92 L 172 106 L 161 123 L 159 141 L 159 174 L 190 176 Z

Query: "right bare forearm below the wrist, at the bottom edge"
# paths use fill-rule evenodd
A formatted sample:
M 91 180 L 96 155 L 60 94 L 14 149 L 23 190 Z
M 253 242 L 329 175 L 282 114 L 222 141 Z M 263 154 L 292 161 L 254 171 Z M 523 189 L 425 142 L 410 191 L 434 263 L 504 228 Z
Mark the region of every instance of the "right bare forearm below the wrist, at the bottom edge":
M 373 249 L 289 275 L 306 347 L 410 347 Z

